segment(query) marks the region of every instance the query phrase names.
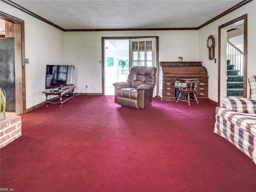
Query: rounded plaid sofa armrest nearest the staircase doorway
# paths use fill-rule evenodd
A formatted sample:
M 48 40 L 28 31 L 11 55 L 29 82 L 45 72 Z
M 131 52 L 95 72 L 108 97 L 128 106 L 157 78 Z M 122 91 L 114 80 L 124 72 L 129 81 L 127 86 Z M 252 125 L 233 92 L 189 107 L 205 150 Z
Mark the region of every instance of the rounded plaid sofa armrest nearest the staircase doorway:
M 256 113 L 256 100 L 240 97 L 222 98 L 222 106 L 228 110 L 240 113 Z

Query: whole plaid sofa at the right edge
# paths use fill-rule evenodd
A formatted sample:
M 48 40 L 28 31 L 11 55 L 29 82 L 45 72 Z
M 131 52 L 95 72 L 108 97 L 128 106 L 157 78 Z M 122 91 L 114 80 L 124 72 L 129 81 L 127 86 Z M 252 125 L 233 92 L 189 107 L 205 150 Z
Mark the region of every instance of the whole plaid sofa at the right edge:
M 249 98 L 224 97 L 216 107 L 214 133 L 226 138 L 256 164 L 256 76 L 248 78 Z

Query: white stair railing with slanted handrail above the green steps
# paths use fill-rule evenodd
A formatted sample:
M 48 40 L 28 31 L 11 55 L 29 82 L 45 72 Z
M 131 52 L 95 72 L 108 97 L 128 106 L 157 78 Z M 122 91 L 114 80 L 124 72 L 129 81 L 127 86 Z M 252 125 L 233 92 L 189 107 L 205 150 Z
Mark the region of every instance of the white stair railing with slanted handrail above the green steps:
M 230 60 L 231 65 L 235 65 L 234 70 L 239 70 L 240 76 L 244 76 L 244 52 L 230 41 L 227 41 L 227 60 Z

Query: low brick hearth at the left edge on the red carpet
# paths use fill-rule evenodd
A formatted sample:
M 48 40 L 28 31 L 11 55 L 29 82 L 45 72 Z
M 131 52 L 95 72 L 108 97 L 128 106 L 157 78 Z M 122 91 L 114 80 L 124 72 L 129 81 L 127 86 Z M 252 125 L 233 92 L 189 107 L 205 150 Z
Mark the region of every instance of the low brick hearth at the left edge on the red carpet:
M 21 116 L 6 116 L 0 120 L 0 148 L 21 135 Z

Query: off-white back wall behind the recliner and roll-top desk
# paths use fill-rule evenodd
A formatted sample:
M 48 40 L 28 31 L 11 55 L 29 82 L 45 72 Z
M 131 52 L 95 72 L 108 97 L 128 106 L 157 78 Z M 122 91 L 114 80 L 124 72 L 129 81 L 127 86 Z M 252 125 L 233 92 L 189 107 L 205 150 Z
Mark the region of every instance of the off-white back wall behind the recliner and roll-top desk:
M 87 93 L 102 93 L 101 38 L 114 36 L 159 36 L 159 61 L 198 61 L 198 30 L 65 32 L 65 64 L 76 66 L 76 92 L 88 85 Z

